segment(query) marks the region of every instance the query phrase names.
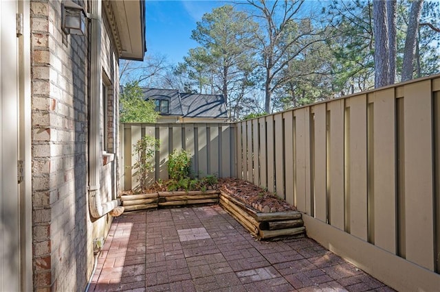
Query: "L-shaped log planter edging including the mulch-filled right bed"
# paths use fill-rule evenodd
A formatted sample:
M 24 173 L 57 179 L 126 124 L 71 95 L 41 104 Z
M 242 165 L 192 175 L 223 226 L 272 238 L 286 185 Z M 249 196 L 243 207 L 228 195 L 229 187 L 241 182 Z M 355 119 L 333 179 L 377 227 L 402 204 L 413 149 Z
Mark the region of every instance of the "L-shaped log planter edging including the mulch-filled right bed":
M 122 195 L 125 211 L 219 204 L 256 239 L 276 240 L 304 236 L 300 212 L 276 195 L 249 182 L 228 179 L 218 189 L 207 191 L 157 191 Z

